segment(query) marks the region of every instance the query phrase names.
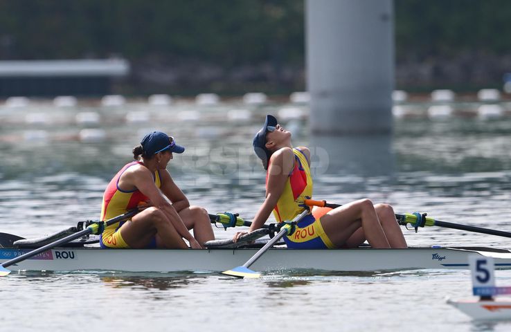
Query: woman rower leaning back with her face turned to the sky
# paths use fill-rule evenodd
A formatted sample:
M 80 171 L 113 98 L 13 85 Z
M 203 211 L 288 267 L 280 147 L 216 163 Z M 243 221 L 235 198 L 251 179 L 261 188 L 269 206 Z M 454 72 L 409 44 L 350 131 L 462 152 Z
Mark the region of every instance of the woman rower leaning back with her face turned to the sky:
M 310 149 L 293 147 L 291 136 L 274 116 L 267 115 L 253 138 L 254 152 L 267 174 L 265 201 L 249 231 L 262 228 L 272 210 L 279 223 L 291 221 L 305 210 L 305 199 L 312 197 Z M 244 234 L 237 232 L 233 241 Z M 391 205 L 373 205 L 369 199 L 347 203 L 323 214 L 313 210 L 283 239 L 287 248 L 294 249 L 351 248 L 366 240 L 373 248 L 406 248 Z

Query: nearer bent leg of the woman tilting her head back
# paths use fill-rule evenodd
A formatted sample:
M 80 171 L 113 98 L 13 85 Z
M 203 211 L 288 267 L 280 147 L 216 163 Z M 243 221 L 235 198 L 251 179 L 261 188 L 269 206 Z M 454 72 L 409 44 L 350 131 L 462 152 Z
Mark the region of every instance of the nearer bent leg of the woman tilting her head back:
M 375 207 L 368 199 L 335 208 L 322 216 L 320 221 L 325 234 L 335 246 L 353 245 L 357 241 L 363 242 L 367 239 L 373 248 L 391 248 L 379 223 Z M 353 235 L 357 239 L 352 238 Z

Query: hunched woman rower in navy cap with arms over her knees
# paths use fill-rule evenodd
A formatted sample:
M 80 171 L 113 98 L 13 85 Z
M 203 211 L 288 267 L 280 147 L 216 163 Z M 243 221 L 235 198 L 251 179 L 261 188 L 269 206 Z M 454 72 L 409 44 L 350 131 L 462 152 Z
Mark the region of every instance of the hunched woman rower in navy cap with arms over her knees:
M 134 147 L 135 161 L 119 170 L 103 194 L 101 220 L 123 214 L 140 202 L 150 207 L 105 228 L 100 236 L 102 248 L 188 248 L 186 239 L 191 248 L 199 249 L 215 239 L 208 212 L 190 206 L 167 170 L 172 154 L 184 151 L 161 131 L 148 133 Z

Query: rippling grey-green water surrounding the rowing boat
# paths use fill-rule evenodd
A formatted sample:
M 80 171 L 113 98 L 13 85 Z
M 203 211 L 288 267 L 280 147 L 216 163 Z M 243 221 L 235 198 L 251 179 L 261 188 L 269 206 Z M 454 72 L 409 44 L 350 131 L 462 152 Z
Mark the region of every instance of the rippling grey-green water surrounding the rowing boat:
M 255 214 L 265 173 L 251 138 L 266 113 L 312 149 L 314 196 L 344 203 L 363 197 L 396 212 L 511 230 L 511 107 L 499 118 L 430 119 L 427 105 L 396 118 L 393 137 L 307 135 L 304 105 L 56 108 L 41 102 L 0 108 L 0 232 L 39 237 L 98 219 L 102 192 L 147 131 L 186 146 L 169 167 L 192 203 L 210 212 Z M 45 116 L 42 114 L 45 113 Z M 271 219 L 273 221 L 273 219 Z M 234 230 L 216 230 L 217 238 Z M 490 235 L 427 228 L 406 231 L 410 245 L 510 248 Z M 511 271 L 497 284 L 511 285 Z M 215 273 L 13 274 L 0 279 L 1 331 L 510 331 L 511 323 L 473 322 L 445 304 L 469 297 L 466 271 L 271 273 L 238 280 Z M 303 315 L 299 315 L 302 313 Z M 149 329 L 147 327 L 149 326 Z

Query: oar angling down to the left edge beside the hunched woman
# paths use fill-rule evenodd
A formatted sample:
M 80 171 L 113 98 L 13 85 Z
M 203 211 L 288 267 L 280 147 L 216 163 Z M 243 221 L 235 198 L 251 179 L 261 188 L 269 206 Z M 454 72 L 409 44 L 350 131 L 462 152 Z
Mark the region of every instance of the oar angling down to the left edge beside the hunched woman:
M 108 219 L 107 221 L 102 221 L 100 223 L 93 223 L 89 227 L 85 228 L 84 230 L 81 230 L 80 232 L 76 232 L 75 234 L 68 235 L 67 237 L 64 237 L 60 240 L 54 241 L 52 243 L 48 243 L 46 246 L 42 246 L 41 248 L 37 248 L 35 250 L 32 250 L 30 252 L 27 252 L 24 255 L 21 255 L 19 257 L 15 257 L 13 259 L 10 259 L 6 261 L 5 263 L 1 264 L 0 266 L 0 276 L 3 277 L 4 275 L 8 275 L 10 273 L 10 270 L 6 269 L 8 266 L 14 265 L 19 263 L 20 261 L 24 261 L 25 259 L 28 259 L 30 257 L 34 257 L 35 255 L 40 254 L 41 252 L 44 252 L 48 249 L 56 248 L 64 243 L 68 243 L 73 241 L 74 239 L 78 239 L 80 237 L 83 237 L 84 235 L 88 234 L 97 234 L 100 230 L 100 226 L 107 227 L 109 225 L 113 225 L 114 223 L 118 223 L 119 221 L 123 221 L 125 219 L 128 219 L 135 214 L 137 214 L 140 210 L 138 208 L 135 208 L 134 210 L 129 210 L 128 212 L 124 214 L 120 214 L 120 216 L 116 216 L 112 219 Z

